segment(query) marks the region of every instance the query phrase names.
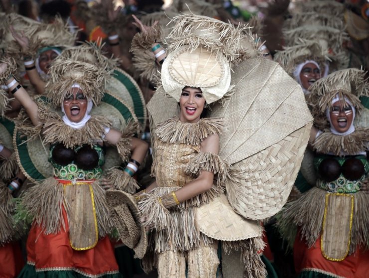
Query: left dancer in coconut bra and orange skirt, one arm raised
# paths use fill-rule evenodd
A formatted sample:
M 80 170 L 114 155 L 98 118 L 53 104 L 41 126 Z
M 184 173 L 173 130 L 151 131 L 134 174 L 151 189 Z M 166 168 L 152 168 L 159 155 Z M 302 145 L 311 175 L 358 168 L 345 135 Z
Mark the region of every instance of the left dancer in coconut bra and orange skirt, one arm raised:
M 33 223 L 27 240 L 27 265 L 20 277 L 120 277 L 108 237 L 113 222 L 100 183 L 104 143 L 116 145 L 123 161 L 129 160 L 132 151 L 133 162 L 128 163 L 125 174 L 120 171 L 117 176 L 115 169 L 115 176 L 108 175 L 115 178 L 116 182 L 111 181 L 115 188 L 131 187 L 131 192 L 136 183 L 130 176 L 143 161 L 147 143 L 132 137 L 136 132 L 133 125 L 121 133 L 111 128 L 107 117 L 90 115 L 102 101 L 110 73 L 103 55 L 100 58 L 96 64 L 63 54 L 56 59 L 47 83 L 49 102 L 31 99 L 11 76 L 14 68 L 0 64 L 1 80 L 24 107 L 17 131 L 28 136 L 27 144 L 42 136 L 45 145 L 38 156 L 50 144 L 53 172 L 49 178 L 36 180 L 21 198 Z M 24 154 L 17 153 L 20 164 Z M 31 177 L 25 167 L 22 170 Z

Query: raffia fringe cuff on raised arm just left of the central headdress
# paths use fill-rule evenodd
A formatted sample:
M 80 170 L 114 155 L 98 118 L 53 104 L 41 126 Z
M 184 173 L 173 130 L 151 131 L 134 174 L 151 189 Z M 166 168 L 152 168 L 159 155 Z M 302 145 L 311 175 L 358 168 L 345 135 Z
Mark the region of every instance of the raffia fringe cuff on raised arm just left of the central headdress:
M 147 33 L 137 33 L 133 37 L 130 51 L 133 53 L 133 62 L 140 76 L 152 81 L 155 74 L 160 71 L 160 67 L 156 63 L 151 46 L 155 42 L 162 42 L 163 34 L 159 26 L 150 30 Z M 164 43 L 161 43 L 161 46 L 163 47 Z

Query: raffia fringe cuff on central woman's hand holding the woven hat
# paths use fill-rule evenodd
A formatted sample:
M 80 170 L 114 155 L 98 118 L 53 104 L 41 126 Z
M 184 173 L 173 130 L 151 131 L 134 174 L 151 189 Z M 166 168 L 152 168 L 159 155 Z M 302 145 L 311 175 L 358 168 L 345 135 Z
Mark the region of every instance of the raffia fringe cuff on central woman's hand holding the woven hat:
M 142 214 L 142 225 L 157 231 L 172 225 L 169 210 L 159 202 L 159 196 L 156 196 L 156 194 L 142 194 L 141 197 L 138 207 Z

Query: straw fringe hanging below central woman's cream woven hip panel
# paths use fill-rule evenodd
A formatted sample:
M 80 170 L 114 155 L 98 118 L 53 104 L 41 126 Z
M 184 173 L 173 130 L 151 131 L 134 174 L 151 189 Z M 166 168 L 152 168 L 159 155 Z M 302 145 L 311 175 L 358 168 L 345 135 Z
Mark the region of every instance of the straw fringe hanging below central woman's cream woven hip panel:
M 232 250 L 241 251 L 241 262 L 244 265 L 243 278 L 265 278 L 266 270 L 258 252 L 265 244 L 261 238 L 251 238 L 242 241 L 223 241 L 222 249 L 225 253 Z

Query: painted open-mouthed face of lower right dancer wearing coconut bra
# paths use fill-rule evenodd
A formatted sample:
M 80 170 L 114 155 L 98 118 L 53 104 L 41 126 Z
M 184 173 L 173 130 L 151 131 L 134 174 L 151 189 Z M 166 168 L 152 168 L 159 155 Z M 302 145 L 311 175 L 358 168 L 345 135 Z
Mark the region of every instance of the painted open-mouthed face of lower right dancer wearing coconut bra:
M 339 133 L 344 133 L 349 130 L 354 120 L 354 112 L 350 105 L 346 105 L 343 101 L 336 101 L 332 104 L 331 124 Z

